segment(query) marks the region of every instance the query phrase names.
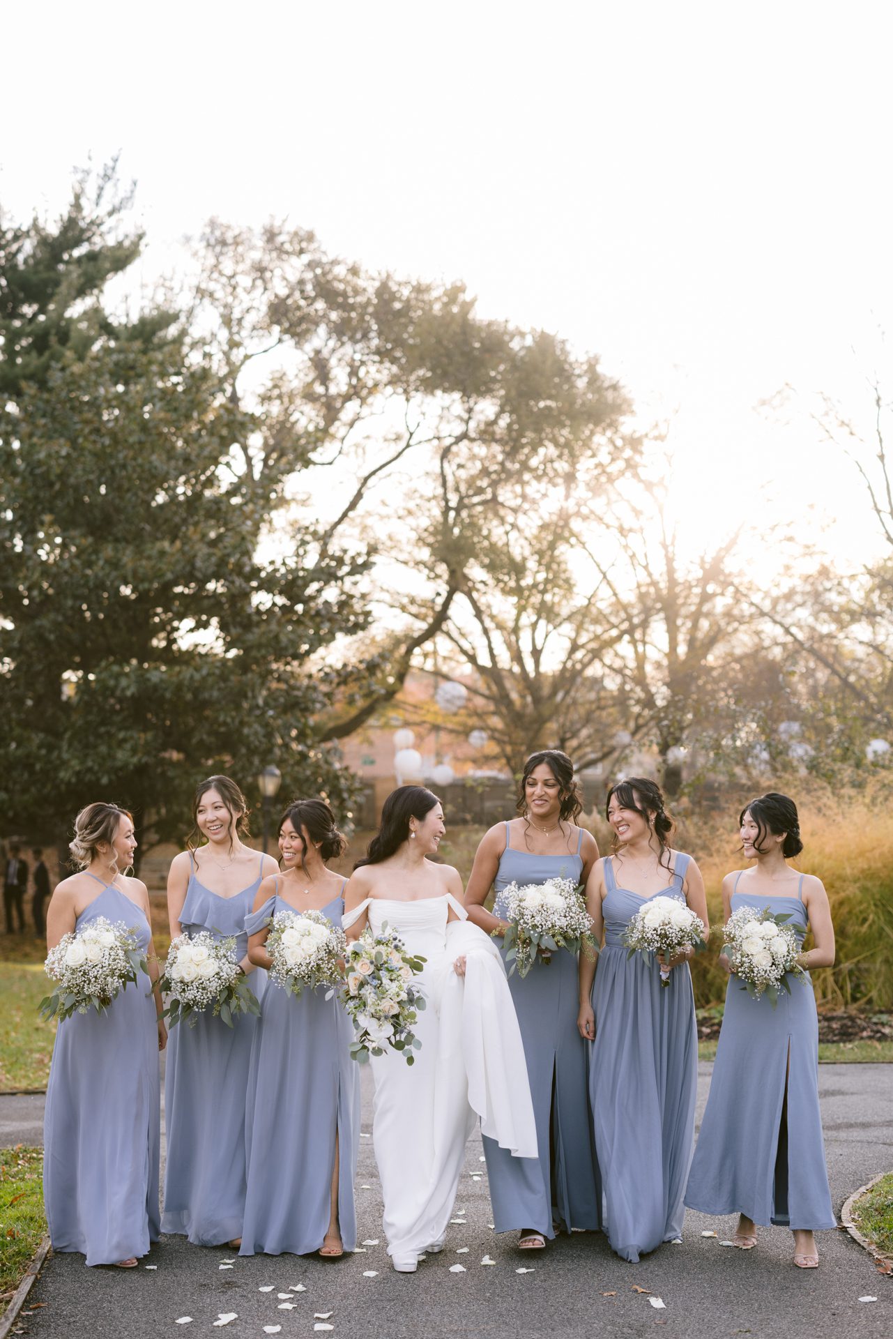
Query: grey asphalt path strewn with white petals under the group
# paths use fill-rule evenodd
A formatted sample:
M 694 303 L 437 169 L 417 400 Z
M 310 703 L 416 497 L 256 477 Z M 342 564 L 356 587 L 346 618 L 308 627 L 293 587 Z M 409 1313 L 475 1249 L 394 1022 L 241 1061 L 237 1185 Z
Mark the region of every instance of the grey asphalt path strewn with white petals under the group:
M 699 1118 L 710 1065 L 702 1065 Z M 819 1070 L 825 1137 L 835 1210 L 878 1170 L 893 1168 L 890 1111 L 893 1066 L 823 1065 Z M 368 1075 L 366 1075 L 368 1078 Z M 102 1095 L 98 1094 L 98 1101 Z M 0 1098 L 3 1142 L 35 1138 L 40 1099 Z M 407 1119 L 412 1114 L 407 1113 Z M 20 1122 L 20 1123 L 16 1123 Z M 371 1125 L 371 1091 L 364 1091 L 363 1130 Z M 288 1130 L 281 1137 L 288 1138 Z M 276 1150 L 270 1150 L 270 1157 Z M 513 1237 L 489 1228 L 490 1205 L 481 1141 L 469 1144 L 457 1217 L 440 1256 L 416 1275 L 395 1273 L 382 1240 L 382 1198 L 372 1141 L 360 1141 L 357 1206 L 360 1240 L 379 1239 L 364 1253 L 325 1264 L 316 1257 L 236 1257 L 226 1249 L 187 1245 L 165 1237 L 139 1269 L 87 1269 L 82 1256 L 51 1257 L 31 1293 L 31 1315 L 17 1332 L 29 1339 L 122 1339 L 122 1336 L 210 1336 L 220 1312 L 237 1319 L 214 1330 L 225 1339 L 262 1339 L 280 1326 L 281 1339 L 315 1339 L 327 1323 L 332 1339 L 892 1339 L 893 1280 L 880 1276 L 869 1256 L 842 1232 L 821 1235 L 822 1265 L 799 1271 L 790 1263 L 791 1236 L 763 1229 L 755 1251 L 720 1247 L 734 1221 L 689 1213 L 681 1245 L 665 1245 L 636 1265 L 613 1256 L 601 1235 L 560 1237 L 545 1252 L 519 1253 Z M 475 1181 L 474 1177 L 481 1177 Z M 459 1213 L 458 1210 L 463 1210 Z M 718 1237 L 702 1237 L 716 1229 Z M 467 1252 L 458 1253 L 467 1247 Z M 482 1265 L 489 1253 L 495 1265 Z M 155 1268 L 146 1268 L 146 1264 Z M 463 1273 L 450 1265 L 463 1264 Z M 517 1273 L 533 1267 L 533 1273 Z M 378 1271 L 366 1277 L 364 1271 Z M 293 1304 L 280 1310 L 280 1292 L 303 1283 Z M 272 1284 L 272 1292 L 261 1292 Z M 644 1288 L 664 1302 L 653 1308 Z M 876 1303 L 858 1297 L 877 1296 Z M 332 1312 L 327 1322 L 316 1312 Z M 179 1316 L 191 1324 L 177 1326 Z M 323 1331 L 325 1334 L 327 1331 Z

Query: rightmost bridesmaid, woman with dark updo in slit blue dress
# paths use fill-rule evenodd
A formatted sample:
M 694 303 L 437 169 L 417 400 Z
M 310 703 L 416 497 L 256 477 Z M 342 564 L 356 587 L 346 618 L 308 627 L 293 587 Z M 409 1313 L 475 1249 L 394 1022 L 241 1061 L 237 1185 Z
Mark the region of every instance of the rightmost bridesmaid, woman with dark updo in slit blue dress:
M 770 791 L 742 810 L 740 838 L 751 869 L 723 880 L 726 919 L 739 907 L 791 919 L 798 937 L 811 927 L 815 947 L 801 967 L 831 967 L 834 927 L 827 893 L 814 874 L 787 864 L 803 849 L 797 805 Z M 723 953 L 720 961 L 730 971 Z M 716 1063 L 685 1204 L 702 1213 L 738 1213 L 735 1245 L 756 1245 L 756 1224 L 794 1232 L 794 1264 L 818 1268 L 813 1232 L 835 1227 L 818 1103 L 818 1018 L 811 980 L 791 994 L 752 999 L 730 976 Z

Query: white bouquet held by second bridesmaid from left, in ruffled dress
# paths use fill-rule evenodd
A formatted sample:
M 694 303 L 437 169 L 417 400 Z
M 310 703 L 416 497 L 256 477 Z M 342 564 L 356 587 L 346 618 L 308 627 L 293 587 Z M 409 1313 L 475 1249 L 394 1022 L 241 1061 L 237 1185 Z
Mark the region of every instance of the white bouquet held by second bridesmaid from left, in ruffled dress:
M 195 1027 L 198 1015 L 210 1008 L 228 1027 L 238 1014 L 260 1014 L 245 976 L 236 960 L 236 939 L 216 939 L 204 929 L 194 939 L 171 939 L 165 971 L 158 983 L 169 996 L 165 1018 L 175 1027 L 183 1019 Z

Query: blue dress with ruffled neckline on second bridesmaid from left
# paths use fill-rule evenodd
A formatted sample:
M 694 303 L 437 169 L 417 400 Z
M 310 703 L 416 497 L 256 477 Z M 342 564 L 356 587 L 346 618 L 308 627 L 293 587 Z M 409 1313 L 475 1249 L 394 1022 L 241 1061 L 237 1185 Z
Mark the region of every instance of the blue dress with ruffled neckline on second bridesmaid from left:
M 190 853 L 191 860 L 191 853 Z M 248 949 L 245 917 L 262 877 L 233 897 L 220 897 L 198 880 L 193 861 L 179 915 L 190 939 L 210 931 L 216 939 L 236 936 L 236 953 Z M 266 972 L 253 971 L 248 984 L 262 1002 Z M 162 1232 L 185 1233 L 194 1245 L 214 1247 L 242 1235 L 245 1212 L 245 1090 L 258 1019 L 240 1014 L 228 1027 L 210 1011 L 195 1027 L 170 1030 L 165 1071 L 167 1160 Z

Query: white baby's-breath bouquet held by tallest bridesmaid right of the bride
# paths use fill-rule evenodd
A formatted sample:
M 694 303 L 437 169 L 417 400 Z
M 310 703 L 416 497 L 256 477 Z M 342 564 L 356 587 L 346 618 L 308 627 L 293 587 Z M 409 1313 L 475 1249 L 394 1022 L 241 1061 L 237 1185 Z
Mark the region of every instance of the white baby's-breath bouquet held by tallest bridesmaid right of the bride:
M 548 878 L 545 884 L 521 886 L 509 884 L 502 890 L 501 902 L 509 921 L 502 939 L 506 963 L 511 963 L 509 976 L 515 969 L 518 976 L 526 976 L 537 949 L 546 963 L 560 948 L 572 953 L 578 953 L 581 948 L 594 952 L 592 917 L 582 888 L 573 878 Z

